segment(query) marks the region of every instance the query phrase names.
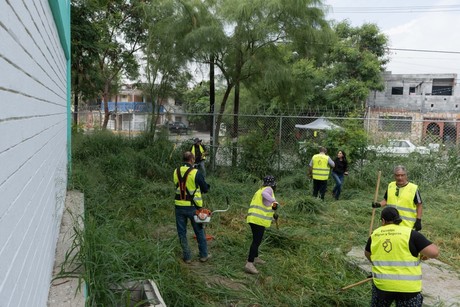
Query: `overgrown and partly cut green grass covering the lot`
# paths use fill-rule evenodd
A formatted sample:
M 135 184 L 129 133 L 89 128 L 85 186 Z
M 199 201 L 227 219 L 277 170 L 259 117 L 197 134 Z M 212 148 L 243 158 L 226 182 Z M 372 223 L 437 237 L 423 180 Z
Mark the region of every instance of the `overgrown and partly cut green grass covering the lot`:
M 73 261 L 85 268 L 80 277 L 88 286 L 89 306 L 123 305 L 126 293 L 114 291 L 114 285 L 145 279 L 156 281 L 168 306 L 368 306 L 369 284 L 339 291 L 366 278 L 345 255 L 353 246 L 364 249 L 376 174 L 382 171 L 380 200 L 395 164 L 406 165 L 411 181 L 420 186 L 423 233 L 440 247 L 440 260 L 460 270 L 459 176 L 452 161 L 444 168 L 433 160 L 365 163 L 351 169 L 339 201 L 330 195 L 325 202 L 310 197 L 311 182 L 302 167 L 278 174 L 276 196 L 284 203 L 279 229 L 267 229 L 260 249 L 267 264 L 253 276 L 243 272 L 251 242 L 245 214 L 260 185 L 257 177 L 242 170 L 208 171 L 206 206 L 224 209 L 228 197 L 231 208 L 215 214 L 207 226 L 215 237 L 207 263 L 197 261 L 189 226 L 195 259 L 185 265 L 172 184 L 185 147 L 176 148 L 163 136 L 128 140 L 108 133 L 77 135 L 74 142 L 69 188 L 85 195 L 85 230 L 76 238 L 81 247 Z M 446 172 L 449 178 L 442 176 Z

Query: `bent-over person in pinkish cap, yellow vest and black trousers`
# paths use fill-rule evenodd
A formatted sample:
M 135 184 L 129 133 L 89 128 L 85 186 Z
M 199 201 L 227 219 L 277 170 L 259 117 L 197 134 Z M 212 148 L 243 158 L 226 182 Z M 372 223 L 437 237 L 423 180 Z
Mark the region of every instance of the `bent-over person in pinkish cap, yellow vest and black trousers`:
M 259 246 L 262 243 L 265 228 L 270 227 L 275 217 L 273 213 L 279 206 L 275 199 L 275 189 L 275 177 L 271 175 L 265 176 L 262 187 L 254 194 L 249 206 L 246 222 L 251 227 L 252 243 L 244 270 L 250 274 L 259 273 L 254 263 L 265 263 L 264 260 L 259 258 Z

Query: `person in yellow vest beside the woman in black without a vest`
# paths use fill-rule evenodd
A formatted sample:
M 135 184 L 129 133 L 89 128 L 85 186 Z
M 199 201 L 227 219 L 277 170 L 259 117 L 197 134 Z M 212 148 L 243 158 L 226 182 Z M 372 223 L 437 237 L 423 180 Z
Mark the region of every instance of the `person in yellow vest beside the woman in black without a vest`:
M 321 197 L 324 200 L 324 195 L 327 190 L 327 180 L 331 168 L 334 168 L 334 161 L 327 155 L 325 147 L 320 147 L 319 153 L 314 155 L 308 165 L 308 176 L 313 179 L 313 197 Z

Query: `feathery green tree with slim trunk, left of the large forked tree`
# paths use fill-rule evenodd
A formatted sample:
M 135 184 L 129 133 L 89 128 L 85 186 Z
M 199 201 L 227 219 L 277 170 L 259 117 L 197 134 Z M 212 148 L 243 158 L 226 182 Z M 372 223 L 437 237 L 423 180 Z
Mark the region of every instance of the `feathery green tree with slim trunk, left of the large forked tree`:
M 152 97 L 153 116 L 149 130 L 157 123 L 161 99 L 181 97 L 191 79 L 187 65 L 193 56 L 187 35 L 197 27 L 199 14 L 193 1 L 155 1 L 145 8 L 148 39 L 146 59 L 147 92 Z M 199 11 L 199 10 L 198 10 Z

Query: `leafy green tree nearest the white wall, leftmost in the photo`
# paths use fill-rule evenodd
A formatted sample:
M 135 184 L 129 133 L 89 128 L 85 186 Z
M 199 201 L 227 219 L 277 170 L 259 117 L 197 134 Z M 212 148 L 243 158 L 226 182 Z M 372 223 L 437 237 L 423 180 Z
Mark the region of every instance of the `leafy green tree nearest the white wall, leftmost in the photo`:
M 135 79 L 138 76 L 139 64 L 136 52 L 140 50 L 145 41 L 145 29 L 142 27 L 142 0 L 72 0 L 72 9 L 78 9 L 79 14 L 74 15 L 72 22 L 80 25 L 72 34 L 84 40 L 84 44 L 91 49 L 89 61 L 85 49 L 72 48 L 72 59 L 75 61 L 75 72 L 91 72 L 89 90 L 94 91 L 93 96 L 100 96 L 104 102 L 103 128 L 107 127 L 109 120 L 108 101 L 119 80 L 124 77 Z M 89 37 L 84 37 L 88 27 Z M 90 42 L 90 39 L 96 39 Z M 72 46 L 73 47 L 73 46 Z M 95 59 L 97 57 L 97 59 Z M 93 74 L 94 73 L 94 74 Z M 80 92 L 89 92 L 87 83 L 78 81 Z

